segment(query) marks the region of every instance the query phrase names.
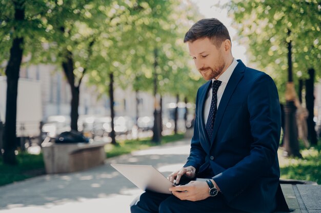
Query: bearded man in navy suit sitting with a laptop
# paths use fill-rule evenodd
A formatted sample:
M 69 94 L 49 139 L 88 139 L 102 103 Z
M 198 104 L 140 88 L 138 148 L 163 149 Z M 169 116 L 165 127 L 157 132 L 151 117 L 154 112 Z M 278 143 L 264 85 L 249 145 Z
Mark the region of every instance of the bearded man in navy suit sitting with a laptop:
M 233 58 L 229 32 L 215 18 L 196 22 L 184 42 L 208 82 L 197 91 L 188 160 L 168 178 L 207 180 L 173 186 L 172 195 L 145 192 L 131 212 L 288 210 L 279 186 L 281 114 L 273 80 Z

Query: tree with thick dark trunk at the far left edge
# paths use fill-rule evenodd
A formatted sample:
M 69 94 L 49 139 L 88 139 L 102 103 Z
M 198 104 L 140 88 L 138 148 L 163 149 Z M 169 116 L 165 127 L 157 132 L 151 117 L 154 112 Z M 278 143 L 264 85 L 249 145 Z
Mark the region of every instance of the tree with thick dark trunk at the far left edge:
M 5 68 L 7 101 L 3 159 L 7 164 L 16 164 L 14 151 L 16 149 L 16 104 L 19 70 L 23 55 L 29 53 L 25 49 L 30 49 L 30 52 L 37 51 L 32 48 L 32 44 L 38 45 L 39 41 L 35 38 L 45 32 L 46 24 L 43 17 L 47 13 L 47 7 L 42 1 L 34 1 L 30 4 L 25 0 L 2 0 L 0 12 L 0 64 L 7 61 Z

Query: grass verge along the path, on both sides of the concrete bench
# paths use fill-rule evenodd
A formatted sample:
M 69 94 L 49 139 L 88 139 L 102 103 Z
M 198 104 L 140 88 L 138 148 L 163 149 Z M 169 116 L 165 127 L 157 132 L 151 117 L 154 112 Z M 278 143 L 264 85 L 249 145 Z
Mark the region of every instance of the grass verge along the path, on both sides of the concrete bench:
M 179 140 L 183 137 L 183 134 L 163 136 L 160 144 Z M 142 140 L 118 141 L 117 146 L 113 146 L 111 144 L 106 146 L 106 155 L 107 157 L 114 157 L 130 153 L 134 150 L 146 149 L 148 147 L 160 144 L 151 142 L 150 138 L 145 138 Z M 46 173 L 42 153 L 39 155 L 33 155 L 26 152 L 21 152 L 16 155 L 16 157 L 18 161 L 17 165 L 4 164 L 2 158 L 0 157 L 0 186 Z

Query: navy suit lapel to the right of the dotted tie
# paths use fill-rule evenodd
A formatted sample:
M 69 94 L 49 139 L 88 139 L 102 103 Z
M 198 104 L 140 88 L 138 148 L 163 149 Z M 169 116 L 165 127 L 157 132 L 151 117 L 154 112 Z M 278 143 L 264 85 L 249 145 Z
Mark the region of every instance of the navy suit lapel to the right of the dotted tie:
M 214 127 L 213 127 L 213 134 L 212 134 L 212 141 L 211 141 L 211 146 L 213 145 L 213 141 L 215 139 L 218 127 L 220 125 L 220 122 L 222 121 L 225 109 L 227 104 L 229 103 L 229 100 L 238 84 L 240 79 L 242 79 L 244 75 L 244 70 L 245 70 L 245 65 L 241 60 L 237 60 L 238 64 L 236 65 L 222 96 L 222 99 L 220 99 L 218 109 L 216 112 L 216 118 L 214 122 Z

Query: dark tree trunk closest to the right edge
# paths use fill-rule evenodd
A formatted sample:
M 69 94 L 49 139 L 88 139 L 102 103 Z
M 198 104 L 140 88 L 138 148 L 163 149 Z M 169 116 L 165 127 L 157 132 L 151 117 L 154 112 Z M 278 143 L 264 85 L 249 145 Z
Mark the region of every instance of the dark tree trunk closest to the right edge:
M 317 145 L 316 132 L 315 132 L 315 122 L 313 121 L 314 116 L 314 69 L 308 70 L 310 78 L 306 80 L 306 106 L 309 111 L 309 116 L 307 118 L 308 124 L 308 138 L 311 145 Z

